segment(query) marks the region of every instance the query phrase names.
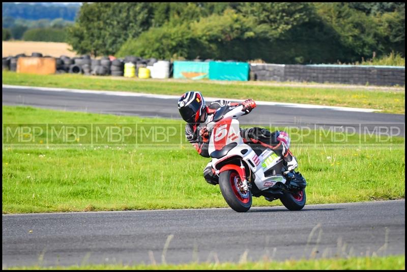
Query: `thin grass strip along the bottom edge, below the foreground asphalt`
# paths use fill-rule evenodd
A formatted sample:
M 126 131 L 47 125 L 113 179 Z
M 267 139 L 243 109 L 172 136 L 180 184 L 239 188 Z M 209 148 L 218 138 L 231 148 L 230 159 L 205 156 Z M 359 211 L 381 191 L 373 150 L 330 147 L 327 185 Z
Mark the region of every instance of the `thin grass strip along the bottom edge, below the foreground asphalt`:
M 74 266 L 21 266 L 9 267 L 7 269 L 18 270 L 404 270 L 405 256 L 387 256 L 387 257 L 352 257 L 347 259 L 317 259 L 317 260 L 287 260 L 278 261 L 258 261 L 242 263 L 188 263 L 188 264 L 89 264 Z

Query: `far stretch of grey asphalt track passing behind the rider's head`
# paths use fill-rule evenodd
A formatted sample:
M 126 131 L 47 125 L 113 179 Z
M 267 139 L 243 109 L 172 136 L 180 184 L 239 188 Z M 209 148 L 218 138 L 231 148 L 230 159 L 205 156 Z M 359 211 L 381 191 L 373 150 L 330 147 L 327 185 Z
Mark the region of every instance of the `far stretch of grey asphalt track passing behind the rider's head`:
M 181 95 L 181 94 L 180 94 Z M 69 91 L 46 91 L 40 88 L 21 89 L 3 87 L 3 105 L 25 105 L 63 111 L 82 111 L 117 115 L 137 115 L 180 119 L 177 98 L 125 96 Z M 392 136 L 404 137 L 404 114 L 339 111 L 332 109 L 299 108 L 287 106 L 258 105 L 249 115 L 239 118 L 241 123 L 307 126 L 311 129 L 325 128 L 340 131 L 374 133 L 382 131 Z M 6 120 L 7 122 L 7 120 Z M 348 129 L 349 128 L 349 129 Z

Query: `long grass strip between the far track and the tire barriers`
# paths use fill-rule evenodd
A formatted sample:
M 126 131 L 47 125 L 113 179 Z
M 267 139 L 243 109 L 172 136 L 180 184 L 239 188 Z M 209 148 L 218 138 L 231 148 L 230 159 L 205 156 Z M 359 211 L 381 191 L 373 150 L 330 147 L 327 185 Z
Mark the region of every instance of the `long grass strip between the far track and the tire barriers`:
M 308 84 L 267 82 L 211 82 L 209 80 L 128 79 L 123 77 L 91 77 L 76 74 L 32 75 L 3 71 L 3 84 L 59 87 L 90 90 L 131 91 L 181 95 L 199 90 L 204 96 L 252 98 L 254 100 L 301 103 L 325 106 L 376 109 L 384 113 L 405 113 L 405 91 L 394 87 L 366 90 L 358 86 L 318 88 Z

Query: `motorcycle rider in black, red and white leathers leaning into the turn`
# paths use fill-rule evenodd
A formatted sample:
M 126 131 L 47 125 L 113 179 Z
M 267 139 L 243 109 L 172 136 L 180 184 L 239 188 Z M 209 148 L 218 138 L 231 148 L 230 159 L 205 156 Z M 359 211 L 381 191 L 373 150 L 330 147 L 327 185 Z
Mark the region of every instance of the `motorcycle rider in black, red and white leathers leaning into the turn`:
M 226 105 L 231 108 L 243 105 L 242 111 L 245 112 L 243 115 L 249 114 L 256 107 L 252 99 L 247 99 L 241 103 L 219 99 L 207 106 L 199 91 L 188 91 L 178 100 L 178 109 L 181 117 L 187 122 L 185 136 L 195 147 L 199 155 L 203 157 L 210 157 L 208 153 L 210 135 L 206 125 L 212 121 L 217 109 Z M 288 171 L 292 171 L 298 166 L 297 159 L 288 149 L 290 139 L 285 131 L 274 131 L 271 133 L 265 128 L 251 127 L 241 129 L 240 134 L 245 143 L 263 145 L 272 149 L 277 155 L 282 156 Z M 212 185 L 219 183 L 219 177 L 215 174 L 211 162 L 203 170 L 203 177 Z

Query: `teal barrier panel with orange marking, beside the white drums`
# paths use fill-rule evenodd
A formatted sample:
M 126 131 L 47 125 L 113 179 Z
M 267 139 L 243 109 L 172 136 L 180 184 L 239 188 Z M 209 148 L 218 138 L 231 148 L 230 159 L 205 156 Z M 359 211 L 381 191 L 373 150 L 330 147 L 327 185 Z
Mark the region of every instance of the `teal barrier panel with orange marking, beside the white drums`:
M 209 62 L 174 61 L 172 77 L 184 79 L 209 78 Z

